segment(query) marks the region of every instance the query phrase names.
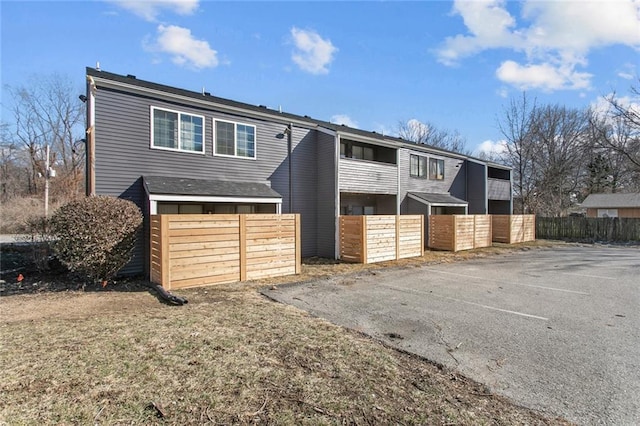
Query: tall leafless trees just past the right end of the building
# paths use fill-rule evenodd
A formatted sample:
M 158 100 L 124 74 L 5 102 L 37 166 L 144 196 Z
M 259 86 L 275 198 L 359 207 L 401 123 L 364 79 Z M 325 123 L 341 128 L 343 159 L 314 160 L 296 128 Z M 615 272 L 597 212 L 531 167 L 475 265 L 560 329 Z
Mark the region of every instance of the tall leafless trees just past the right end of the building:
M 513 167 L 514 210 L 560 216 L 579 201 L 591 159 L 588 114 L 560 105 L 538 105 L 526 93 L 498 119 Z

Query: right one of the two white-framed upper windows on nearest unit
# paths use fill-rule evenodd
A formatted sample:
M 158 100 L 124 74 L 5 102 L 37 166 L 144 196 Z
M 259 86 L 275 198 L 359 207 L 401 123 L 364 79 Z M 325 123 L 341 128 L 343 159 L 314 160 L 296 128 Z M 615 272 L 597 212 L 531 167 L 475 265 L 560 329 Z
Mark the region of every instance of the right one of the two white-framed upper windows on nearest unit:
M 233 157 L 256 158 L 256 127 L 215 120 L 214 153 Z

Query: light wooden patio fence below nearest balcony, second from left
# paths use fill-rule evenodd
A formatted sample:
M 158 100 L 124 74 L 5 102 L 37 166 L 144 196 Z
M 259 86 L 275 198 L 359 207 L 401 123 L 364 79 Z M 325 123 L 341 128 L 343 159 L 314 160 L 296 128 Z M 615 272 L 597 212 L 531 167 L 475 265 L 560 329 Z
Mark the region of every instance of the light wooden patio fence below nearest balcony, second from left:
M 340 216 L 340 259 L 374 263 L 424 255 L 424 216 Z

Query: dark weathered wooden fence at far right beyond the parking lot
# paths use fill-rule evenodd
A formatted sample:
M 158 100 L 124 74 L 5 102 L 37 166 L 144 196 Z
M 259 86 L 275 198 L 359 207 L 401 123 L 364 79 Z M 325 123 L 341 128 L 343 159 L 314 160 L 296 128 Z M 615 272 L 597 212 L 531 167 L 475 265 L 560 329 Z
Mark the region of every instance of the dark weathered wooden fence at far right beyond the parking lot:
M 537 217 L 536 235 L 551 240 L 640 241 L 640 219 Z

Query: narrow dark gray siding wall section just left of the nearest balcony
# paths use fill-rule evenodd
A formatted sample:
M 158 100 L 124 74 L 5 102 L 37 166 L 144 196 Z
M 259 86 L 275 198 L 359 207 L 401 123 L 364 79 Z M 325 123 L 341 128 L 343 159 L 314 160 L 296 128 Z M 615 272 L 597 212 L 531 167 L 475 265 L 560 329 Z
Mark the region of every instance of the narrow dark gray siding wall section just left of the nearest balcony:
M 336 139 L 317 134 L 317 235 L 316 250 L 321 257 L 335 257 L 336 232 Z

